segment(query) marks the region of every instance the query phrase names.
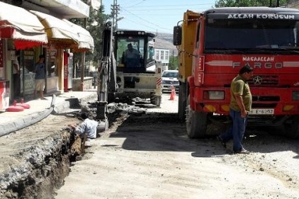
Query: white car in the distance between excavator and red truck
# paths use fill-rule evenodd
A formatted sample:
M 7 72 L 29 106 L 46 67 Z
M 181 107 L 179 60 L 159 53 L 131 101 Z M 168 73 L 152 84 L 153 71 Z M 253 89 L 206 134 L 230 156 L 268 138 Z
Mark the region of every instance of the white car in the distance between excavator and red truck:
M 171 91 L 171 86 L 174 86 L 176 91 L 179 91 L 179 71 L 164 70 L 162 72 L 162 92 Z

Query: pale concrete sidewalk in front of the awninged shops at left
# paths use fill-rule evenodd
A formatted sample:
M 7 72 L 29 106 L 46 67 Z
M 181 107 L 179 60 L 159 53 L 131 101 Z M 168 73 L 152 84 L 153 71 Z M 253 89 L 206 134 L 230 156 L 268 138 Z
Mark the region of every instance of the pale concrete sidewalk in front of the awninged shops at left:
M 0 112 L 0 137 L 10 132 L 33 125 L 51 113 L 63 113 L 65 110 L 96 100 L 96 90 L 69 91 L 57 96 L 45 96 L 47 100 L 34 99 L 24 101 L 30 108 L 21 112 Z M 18 101 L 19 103 L 19 101 Z

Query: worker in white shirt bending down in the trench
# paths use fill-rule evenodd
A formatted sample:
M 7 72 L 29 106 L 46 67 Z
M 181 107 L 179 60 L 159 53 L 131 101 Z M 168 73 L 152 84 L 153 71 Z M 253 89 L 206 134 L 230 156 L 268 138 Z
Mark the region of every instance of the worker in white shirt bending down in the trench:
M 80 116 L 83 119 L 83 122 L 79 125 L 69 125 L 69 127 L 72 127 L 72 130 L 74 130 L 74 132 L 81 138 L 84 137 L 84 135 L 87 135 L 87 141 L 96 138 L 98 122 L 89 119 L 89 116 L 86 113 L 81 113 Z

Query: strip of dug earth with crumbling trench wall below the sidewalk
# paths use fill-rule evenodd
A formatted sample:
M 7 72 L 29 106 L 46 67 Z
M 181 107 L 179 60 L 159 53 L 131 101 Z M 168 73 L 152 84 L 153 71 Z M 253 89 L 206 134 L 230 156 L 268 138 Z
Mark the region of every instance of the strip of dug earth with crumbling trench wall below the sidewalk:
M 65 122 L 77 118 L 50 115 L 1 137 L 0 198 L 52 198 L 71 161 L 81 155 L 81 139 L 63 127 Z

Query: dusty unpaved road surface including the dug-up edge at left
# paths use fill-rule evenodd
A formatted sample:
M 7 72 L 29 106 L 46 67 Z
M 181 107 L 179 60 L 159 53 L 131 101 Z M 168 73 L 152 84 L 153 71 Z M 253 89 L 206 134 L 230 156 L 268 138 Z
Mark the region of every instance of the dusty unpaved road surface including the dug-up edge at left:
M 77 110 L 0 137 L 0 198 L 299 198 L 298 140 L 247 130 L 252 154 L 232 154 L 218 132 L 188 139 L 176 113 L 169 94 L 161 108 L 115 109 L 74 162 Z

